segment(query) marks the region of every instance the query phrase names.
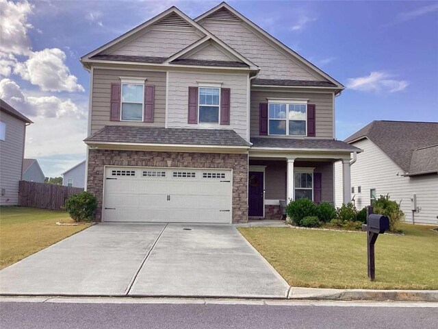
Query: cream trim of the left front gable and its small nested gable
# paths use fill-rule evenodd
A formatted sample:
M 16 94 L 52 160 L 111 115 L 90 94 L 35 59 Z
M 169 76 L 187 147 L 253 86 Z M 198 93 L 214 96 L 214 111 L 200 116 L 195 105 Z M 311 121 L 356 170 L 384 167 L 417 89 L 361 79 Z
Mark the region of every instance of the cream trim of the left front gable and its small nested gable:
M 232 53 L 234 56 L 236 56 L 237 58 L 242 60 L 242 62 L 248 64 L 248 66 L 250 66 L 251 69 L 258 69 L 258 66 L 255 65 L 250 60 L 248 60 L 248 58 L 245 58 L 240 53 L 235 51 L 235 49 L 231 48 L 225 42 L 223 42 L 222 40 L 220 40 L 219 38 L 214 36 L 214 34 L 211 34 L 207 29 L 205 29 L 204 27 L 202 27 L 201 25 L 199 25 L 198 23 L 196 23 L 195 21 L 190 19 L 189 16 L 187 16 L 186 14 L 181 12 L 181 10 L 179 10 L 175 6 L 172 6 L 168 10 L 165 10 L 164 12 L 162 12 L 161 14 L 158 14 L 157 16 L 153 17 L 152 19 L 149 19 L 149 21 L 146 21 L 146 22 L 138 25 L 137 27 L 134 27 L 130 31 L 126 32 L 125 34 L 122 34 L 121 36 L 118 36 L 118 38 L 115 38 L 114 40 L 112 40 L 110 42 L 107 42 L 105 45 L 95 49 L 94 51 L 87 53 L 85 56 L 81 57 L 81 62 L 88 62 L 90 60 L 93 60 L 94 56 L 98 55 L 102 51 L 105 51 L 105 49 L 108 49 L 108 48 L 116 45 L 118 42 L 121 42 L 121 41 L 125 40 L 126 38 L 129 38 L 130 36 L 133 36 L 133 34 L 138 34 L 140 31 L 146 29 L 146 27 L 149 27 L 155 23 L 159 23 L 163 19 L 164 20 L 170 19 L 170 21 L 175 21 L 178 18 L 185 21 L 188 26 L 192 26 L 197 31 L 201 32 L 204 35 L 204 37 L 201 37 L 200 40 L 203 40 L 203 41 L 205 41 L 207 39 L 214 40 L 214 42 L 218 43 L 218 45 L 220 45 L 221 47 L 223 47 L 224 49 L 226 49 L 227 51 Z M 194 42 L 194 44 L 196 44 L 200 40 Z M 179 54 L 179 56 L 181 56 L 181 55 L 183 55 L 183 53 L 188 51 L 189 48 L 190 48 L 190 46 L 187 47 L 186 49 L 183 49 L 182 51 L 177 52 L 176 54 Z M 170 56 L 168 59 L 172 59 L 172 60 L 175 59 L 176 54 Z M 96 58 L 94 58 L 94 59 L 96 59 Z M 164 61 L 164 64 L 169 64 L 169 63 L 167 61 Z

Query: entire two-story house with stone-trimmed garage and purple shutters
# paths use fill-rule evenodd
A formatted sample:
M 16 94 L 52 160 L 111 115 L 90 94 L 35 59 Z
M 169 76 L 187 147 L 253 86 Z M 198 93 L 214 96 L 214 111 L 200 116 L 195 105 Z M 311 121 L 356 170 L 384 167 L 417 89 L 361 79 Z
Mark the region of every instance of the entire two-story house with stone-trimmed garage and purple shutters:
M 280 219 L 280 200 L 335 202 L 338 160 L 350 200 L 344 86 L 227 3 L 169 8 L 81 62 L 96 221 Z

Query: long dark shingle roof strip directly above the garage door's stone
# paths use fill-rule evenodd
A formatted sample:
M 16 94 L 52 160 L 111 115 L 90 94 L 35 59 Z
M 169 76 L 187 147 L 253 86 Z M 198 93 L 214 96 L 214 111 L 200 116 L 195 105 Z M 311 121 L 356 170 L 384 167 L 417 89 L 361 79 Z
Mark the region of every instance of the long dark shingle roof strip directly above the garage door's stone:
M 85 142 L 249 146 L 234 130 L 107 125 Z

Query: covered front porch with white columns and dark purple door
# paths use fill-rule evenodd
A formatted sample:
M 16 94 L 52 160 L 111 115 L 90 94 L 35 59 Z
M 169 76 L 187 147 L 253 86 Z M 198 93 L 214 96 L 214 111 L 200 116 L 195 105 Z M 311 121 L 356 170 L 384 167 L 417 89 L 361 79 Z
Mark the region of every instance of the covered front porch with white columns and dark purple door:
M 288 152 L 289 153 L 289 152 Z M 343 163 L 343 200 L 351 201 L 350 153 L 333 157 L 307 152 L 287 156 L 250 151 L 248 218 L 279 220 L 280 201 L 307 197 L 315 203 L 335 204 L 335 162 Z

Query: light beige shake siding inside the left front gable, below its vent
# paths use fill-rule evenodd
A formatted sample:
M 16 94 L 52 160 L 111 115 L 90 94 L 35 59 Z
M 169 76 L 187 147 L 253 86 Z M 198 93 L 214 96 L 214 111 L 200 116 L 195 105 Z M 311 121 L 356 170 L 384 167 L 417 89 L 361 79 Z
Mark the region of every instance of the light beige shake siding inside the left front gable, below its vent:
M 135 39 L 128 38 L 121 46 L 108 49 L 106 54 L 127 56 L 169 57 L 181 49 L 192 45 L 201 36 L 194 28 L 153 27 Z

